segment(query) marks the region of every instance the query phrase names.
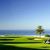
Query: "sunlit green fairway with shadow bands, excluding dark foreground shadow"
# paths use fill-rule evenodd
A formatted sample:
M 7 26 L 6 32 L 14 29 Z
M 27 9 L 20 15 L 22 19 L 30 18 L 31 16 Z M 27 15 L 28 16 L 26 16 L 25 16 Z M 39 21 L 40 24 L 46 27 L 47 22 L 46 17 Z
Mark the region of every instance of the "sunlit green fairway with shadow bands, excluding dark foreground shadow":
M 38 40 L 37 40 L 38 39 Z M 39 38 L 39 37 L 0 37 L 0 45 L 4 46 L 14 46 L 19 48 L 30 48 L 35 50 L 50 50 L 50 44 L 44 44 L 44 40 L 47 38 Z

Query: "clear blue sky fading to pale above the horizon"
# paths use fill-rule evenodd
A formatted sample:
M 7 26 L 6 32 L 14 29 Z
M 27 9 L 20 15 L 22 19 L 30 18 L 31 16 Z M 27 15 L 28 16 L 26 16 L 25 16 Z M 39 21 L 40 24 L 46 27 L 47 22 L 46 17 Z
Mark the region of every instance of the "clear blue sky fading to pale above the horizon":
M 0 30 L 50 29 L 50 0 L 0 0 Z

